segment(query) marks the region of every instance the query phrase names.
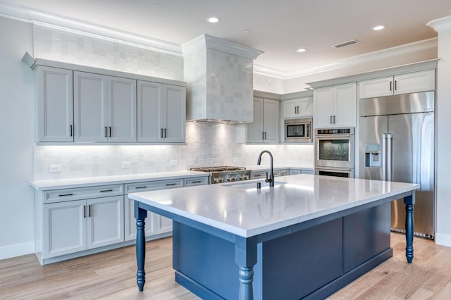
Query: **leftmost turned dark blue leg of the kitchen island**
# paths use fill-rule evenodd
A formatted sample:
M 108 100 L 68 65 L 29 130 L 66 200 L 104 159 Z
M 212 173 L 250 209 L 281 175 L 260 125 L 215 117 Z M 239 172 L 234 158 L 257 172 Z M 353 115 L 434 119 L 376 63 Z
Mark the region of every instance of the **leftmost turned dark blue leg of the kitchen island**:
M 136 262 L 137 273 L 136 283 L 140 292 L 144 289 L 144 283 L 146 282 L 146 272 L 144 270 L 144 261 L 146 258 L 146 237 L 144 234 L 145 222 L 147 218 L 147 210 L 138 206 L 138 202 L 135 201 L 135 218 L 136 218 Z

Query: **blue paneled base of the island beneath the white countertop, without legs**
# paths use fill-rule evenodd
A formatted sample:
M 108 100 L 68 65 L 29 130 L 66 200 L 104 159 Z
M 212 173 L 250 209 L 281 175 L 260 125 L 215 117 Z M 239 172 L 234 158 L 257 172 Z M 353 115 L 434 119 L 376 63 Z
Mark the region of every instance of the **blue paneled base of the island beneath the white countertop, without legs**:
M 324 299 L 393 256 L 390 203 L 257 244 L 254 299 Z M 202 299 L 238 299 L 235 245 L 173 222 L 175 281 Z

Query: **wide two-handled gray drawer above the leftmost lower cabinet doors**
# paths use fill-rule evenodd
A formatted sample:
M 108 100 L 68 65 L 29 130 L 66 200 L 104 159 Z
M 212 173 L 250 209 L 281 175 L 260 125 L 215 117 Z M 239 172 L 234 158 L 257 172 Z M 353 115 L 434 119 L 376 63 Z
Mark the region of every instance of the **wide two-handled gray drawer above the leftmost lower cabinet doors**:
M 123 195 L 123 185 L 100 185 L 75 189 L 54 189 L 44 192 L 44 203 L 73 201 Z

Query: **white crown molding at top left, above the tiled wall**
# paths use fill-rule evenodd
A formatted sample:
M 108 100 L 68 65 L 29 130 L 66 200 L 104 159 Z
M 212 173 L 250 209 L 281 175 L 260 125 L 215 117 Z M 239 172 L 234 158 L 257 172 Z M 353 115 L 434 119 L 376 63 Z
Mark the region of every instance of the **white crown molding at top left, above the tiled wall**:
M 75 32 L 80 35 L 97 37 L 112 42 L 138 46 L 140 48 L 153 51 L 183 56 L 179 44 L 153 39 L 144 35 L 137 35 L 132 32 L 118 30 L 112 27 L 100 26 L 94 23 L 63 17 L 47 11 L 40 11 L 27 6 L 13 6 L 10 4 L 0 4 L 0 15 L 6 18 L 13 18 L 23 22 L 32 23 L 44 27 L 50 27 L 67 32 Z

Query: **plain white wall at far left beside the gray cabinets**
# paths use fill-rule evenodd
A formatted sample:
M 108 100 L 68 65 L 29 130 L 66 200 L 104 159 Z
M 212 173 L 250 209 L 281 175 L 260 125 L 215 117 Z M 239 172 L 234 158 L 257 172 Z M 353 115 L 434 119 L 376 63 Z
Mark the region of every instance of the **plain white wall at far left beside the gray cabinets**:
M 34 244 L 34 77 L 32 25 L 0 17 L 0 259 L 32 253 Z

